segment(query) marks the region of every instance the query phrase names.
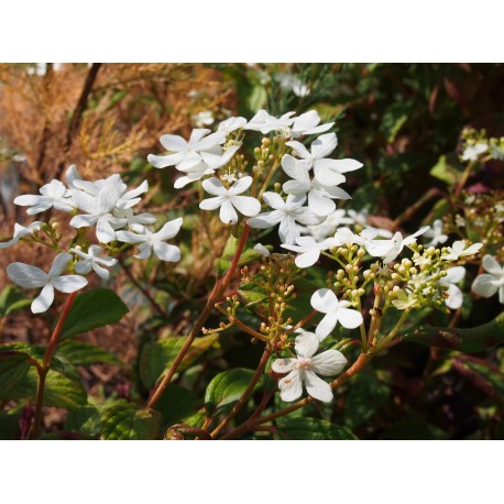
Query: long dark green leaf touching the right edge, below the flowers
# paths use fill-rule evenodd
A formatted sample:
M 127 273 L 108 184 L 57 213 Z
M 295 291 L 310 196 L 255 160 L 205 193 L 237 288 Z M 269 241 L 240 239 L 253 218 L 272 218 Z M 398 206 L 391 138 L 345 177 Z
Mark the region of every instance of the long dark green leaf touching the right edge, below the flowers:
M 494 320 L 471 329 L 419 326 L 401 337 L 399 340 L 460 352 L 481 352 L 504 342 L 504 311 Z

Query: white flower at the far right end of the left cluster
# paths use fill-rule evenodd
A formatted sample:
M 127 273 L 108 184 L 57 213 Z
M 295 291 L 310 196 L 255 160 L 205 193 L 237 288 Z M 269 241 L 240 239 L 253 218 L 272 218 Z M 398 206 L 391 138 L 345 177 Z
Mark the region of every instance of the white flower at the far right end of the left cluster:
M 131 231 L 117 231 L 117 239 L 125 243 L 134 243 L 139 245 L 140 253 L 135 255 L 138 259 L 147 259 L 154 254 L 162 261 L 177 262 L 180 260 L 180 249 L 175 245 L 165 243 L 166 240 L 174 238 L 180 229 L 183 218 L 169 220 L 160 231 L 153 233 L 145 229 L 143 234 L 135 234 Z

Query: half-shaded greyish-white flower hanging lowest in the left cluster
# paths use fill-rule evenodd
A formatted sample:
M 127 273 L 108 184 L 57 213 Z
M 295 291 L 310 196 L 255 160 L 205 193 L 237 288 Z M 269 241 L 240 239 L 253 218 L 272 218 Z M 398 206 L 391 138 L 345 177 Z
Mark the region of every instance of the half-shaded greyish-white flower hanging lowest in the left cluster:
M 46 311 L 54 300 L 54 289 L 61 293 L 74 293 L 87 285 L 88 281 L 80 275 L 62 275 L 72 261 L 68 253 L 57 254 L 47 273 L 40 267 L 24 263 L 12 263 L 7 266 L 9 278 L 24 288 L 40 288 L 41 294 L 32 303 L 32 313 Z

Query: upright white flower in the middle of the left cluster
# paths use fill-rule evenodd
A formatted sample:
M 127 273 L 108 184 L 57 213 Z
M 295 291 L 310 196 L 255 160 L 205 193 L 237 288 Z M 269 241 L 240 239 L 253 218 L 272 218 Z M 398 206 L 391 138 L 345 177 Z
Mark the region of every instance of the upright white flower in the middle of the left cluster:
M 112 210 L 122 196 L 121 186 L 119 184 L 108 184 L 99 190 L 97 196 L 76 189 L 72 193 L 77 207 L 87 213 L 73 217 L 70 226 L 78 229 L 96 224 L 98 240 L 102 243 L 112 241 L 116 238 L 113 227 L 123 224 L 121 219 L 112 215 Z

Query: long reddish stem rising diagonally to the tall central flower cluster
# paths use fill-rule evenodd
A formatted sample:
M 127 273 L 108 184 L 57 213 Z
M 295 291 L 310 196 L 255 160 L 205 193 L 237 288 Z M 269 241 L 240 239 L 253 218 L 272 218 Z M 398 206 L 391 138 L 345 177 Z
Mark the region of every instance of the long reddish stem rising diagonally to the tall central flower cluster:
M 228 284 L 231 282 L 233 277 L 234 270 L 237 269 L 238 263 L 240 261 L 240 256 L 245 246 L 246 238 L 249 237 L 249 232 L 250 232 L 250 228 L 245 223 L 242 235 L 240 237 L 240 241 L 237 246 L 237 251 L 234 252 L 234 256 L 231 261 L 231 265 L 229 266 L 228 272 L 226 273 L 226 275 L 222 278 L 217 278 L 216 285 L 213 286 L 213 289 L 211 291 L 207 299 L 204 310 L 199 315 L 198 320 L 196 320 L 196 324 L 193 327 L 193 330 L 190 331 L 189 336 L 187 337 L 177 357 L 173 361 L 173 364 L 169 366 L 168 371 L 165 373 L 165 375 L 161 380 L 160 384 L 157 385 L 157 388 L 155 388 L 153 394 L 151 395 L 147 402 L 147 408 L 153 408 L 156 405 L 157 401 L 160 401 L 164 391 L 172 382 L 173 375 L 176 373 L 178 366 L 180 365 L 180 362 L 186 357 L 186 353 L 188 352 L 189 348 L 191 347 L 194 340 L 201 332 L 201 329 L 205 322 L 208 320 L 208 317 L 210 317 L 210 314 L 213 310 L 215 304 L 222 297 L 223 293 L 226 292 Z

